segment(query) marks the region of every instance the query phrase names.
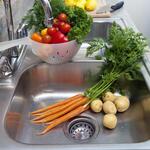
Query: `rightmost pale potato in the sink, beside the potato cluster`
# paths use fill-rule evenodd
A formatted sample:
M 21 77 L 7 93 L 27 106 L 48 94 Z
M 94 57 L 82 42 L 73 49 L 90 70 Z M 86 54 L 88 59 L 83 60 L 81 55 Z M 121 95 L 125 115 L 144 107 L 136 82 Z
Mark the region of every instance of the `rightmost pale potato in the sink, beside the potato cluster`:
M 114 103 L 116 105 L 118 112 L 124 112 L 130 106 L 130 101 L 126 96 L 118 96 Z

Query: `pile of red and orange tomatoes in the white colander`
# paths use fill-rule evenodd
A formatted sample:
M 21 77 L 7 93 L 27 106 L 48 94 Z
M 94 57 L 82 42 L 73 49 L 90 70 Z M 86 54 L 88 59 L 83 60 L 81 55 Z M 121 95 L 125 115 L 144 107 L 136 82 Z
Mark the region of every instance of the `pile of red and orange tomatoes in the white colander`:
M 67 22 L 68 16 L 64 13 L 54 19 L 52 27 L 45 28 L 39 33 L 33 33 L 31 39 L 40 43 L 54 44 L 68 42 L 67 34 L 71 25 Z

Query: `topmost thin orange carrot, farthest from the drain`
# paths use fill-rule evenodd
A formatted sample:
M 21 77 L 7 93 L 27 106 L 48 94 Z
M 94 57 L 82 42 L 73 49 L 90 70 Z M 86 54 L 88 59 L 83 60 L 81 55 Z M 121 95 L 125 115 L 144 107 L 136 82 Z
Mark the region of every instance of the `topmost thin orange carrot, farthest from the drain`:
M 66 104 L 66 103 L 68 103 L 68 102 L 70 102 L 70 101 L 72 101 L 72 100 L 75 100 L 76 98 L 79 98 L 79 97 L 81 97 L 81 96 L 83 96 L 83 95 L 82 95 L 82 94 L 78 94 L 78 95 L 75 95 L 75 96 L 73 96 L 73 97 L 70 97 L 70 98 L 68 98 L 68 99 L 66 99 L 66 100 L 64 100 L 64 101 L 60 101 L 60 102 L 55 103 L 55 104 L 52 104 L 52 105 L 50 105 L 50 106 L 47 106 L 47 107 L 38 109 L 38 110 L 36 110 L 36 111 L 31 112 L 31 115 L 38 114 L 38 113 L 42 113 L 42 112 L 47 111 L 47 110 L 49 110 L 49 109 L 51 109 L 51 108 L 54 108 L 54 107 L 57 107 L 57 106 L 61 106 L 61 105 Z

